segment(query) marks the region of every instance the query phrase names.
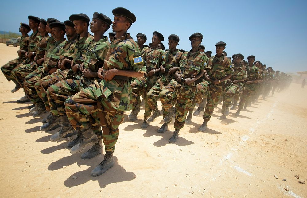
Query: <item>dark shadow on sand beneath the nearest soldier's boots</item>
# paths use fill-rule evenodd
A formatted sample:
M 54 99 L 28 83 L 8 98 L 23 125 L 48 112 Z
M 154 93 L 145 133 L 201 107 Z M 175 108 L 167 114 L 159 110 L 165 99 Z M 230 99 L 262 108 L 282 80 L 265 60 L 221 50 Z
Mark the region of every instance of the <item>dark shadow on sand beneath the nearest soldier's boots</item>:
M 88 167 L 88 169 L 78 171 L 72 174 L 70 177 L 68 177 L 64 181 L 64 185 L 70 188 L 73 186 L 85 184 L 86 182 L 92 180 L 92 181 L 98 181 L 100 188 L 105 188 L 108 184 L 118 183 L 123 181 L 131 181 L 135 179 L 135 174 L 133 172 L 127 172 L 121 165 L 118 164 L 117 157 L 113 158 L 114 158 L 113 167 L 107 170 L 107 172 L 103 173 L 103 175 L 97 177 L 91 176 L 92 169 L 94 169 L 99 164 L 99 162 L 103 160 L 103 156 L 101 156 L 101 160 L 99 162 L 88 163 L 90 164 L 90 167 Z M 72 178 L 73 176 L 76 176 L 77 179 L 73 179 Z

